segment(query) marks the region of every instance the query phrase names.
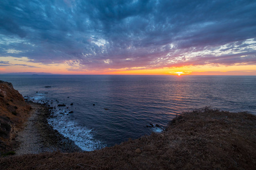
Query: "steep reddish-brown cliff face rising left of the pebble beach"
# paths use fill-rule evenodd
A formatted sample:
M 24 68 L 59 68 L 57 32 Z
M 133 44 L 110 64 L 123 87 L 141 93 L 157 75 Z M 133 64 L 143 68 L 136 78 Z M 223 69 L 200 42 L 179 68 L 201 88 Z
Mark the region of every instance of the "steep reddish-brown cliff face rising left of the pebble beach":
M 22 129 L 30 109 L 13 84 L 0 80 L 0 152 L 11 151 L 16 145 L 16 131 Z

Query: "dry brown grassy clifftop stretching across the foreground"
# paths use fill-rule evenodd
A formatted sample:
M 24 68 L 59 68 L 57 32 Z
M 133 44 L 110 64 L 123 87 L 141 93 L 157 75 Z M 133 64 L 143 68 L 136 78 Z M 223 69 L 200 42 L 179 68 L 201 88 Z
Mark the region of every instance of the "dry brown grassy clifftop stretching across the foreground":
M 205 108 L 163 133 L 92 152 L 9 156 L 0 169 L 255 169 L 255 126 L 252 114 Z

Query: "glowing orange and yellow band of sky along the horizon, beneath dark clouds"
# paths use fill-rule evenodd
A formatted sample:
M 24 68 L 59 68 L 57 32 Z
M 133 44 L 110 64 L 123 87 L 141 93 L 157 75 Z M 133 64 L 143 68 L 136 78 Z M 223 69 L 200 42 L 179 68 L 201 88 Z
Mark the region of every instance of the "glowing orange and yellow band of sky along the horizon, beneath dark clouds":
M 5 73 L 52 73 L 52 74 L 104 74 L 104 75 L 256 75 L 255 65 L 233 66 L 183 66 L 162 67 L 152 69 L 147 67 L 125 67 L 122 69 L 81 69 L 79 65 L 68 65 L 67 62 L 43 64 L 32 62 L 28 57 L 1 57 L 0 74 Z M 183 71 L 181 71 L 183 70 Z

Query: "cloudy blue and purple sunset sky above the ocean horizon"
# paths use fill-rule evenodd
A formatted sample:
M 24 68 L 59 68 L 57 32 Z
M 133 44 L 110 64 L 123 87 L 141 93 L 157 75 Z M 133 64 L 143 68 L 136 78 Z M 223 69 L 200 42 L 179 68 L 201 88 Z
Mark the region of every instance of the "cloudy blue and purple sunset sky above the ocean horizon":
M 256 75 L 256 1 L 1 0 L 0 74 Z

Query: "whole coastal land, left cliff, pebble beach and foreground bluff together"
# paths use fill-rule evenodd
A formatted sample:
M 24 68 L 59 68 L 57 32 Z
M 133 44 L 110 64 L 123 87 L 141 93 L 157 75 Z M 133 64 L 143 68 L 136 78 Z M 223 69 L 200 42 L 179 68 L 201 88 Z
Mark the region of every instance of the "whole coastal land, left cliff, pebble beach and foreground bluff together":
M 25 102 L 7 82 L 0 82 L 0 101 L 0 151 L 10 151 L 16 146 L 13 143 L 20 143 L 16 155 L 0 158 L 0 169 L 256 167 L 256 116 L 253 114 L 206 107 L 180 114 L 162 133 L 82 152 L 48 124 L 51 112 L 47 104 Z

